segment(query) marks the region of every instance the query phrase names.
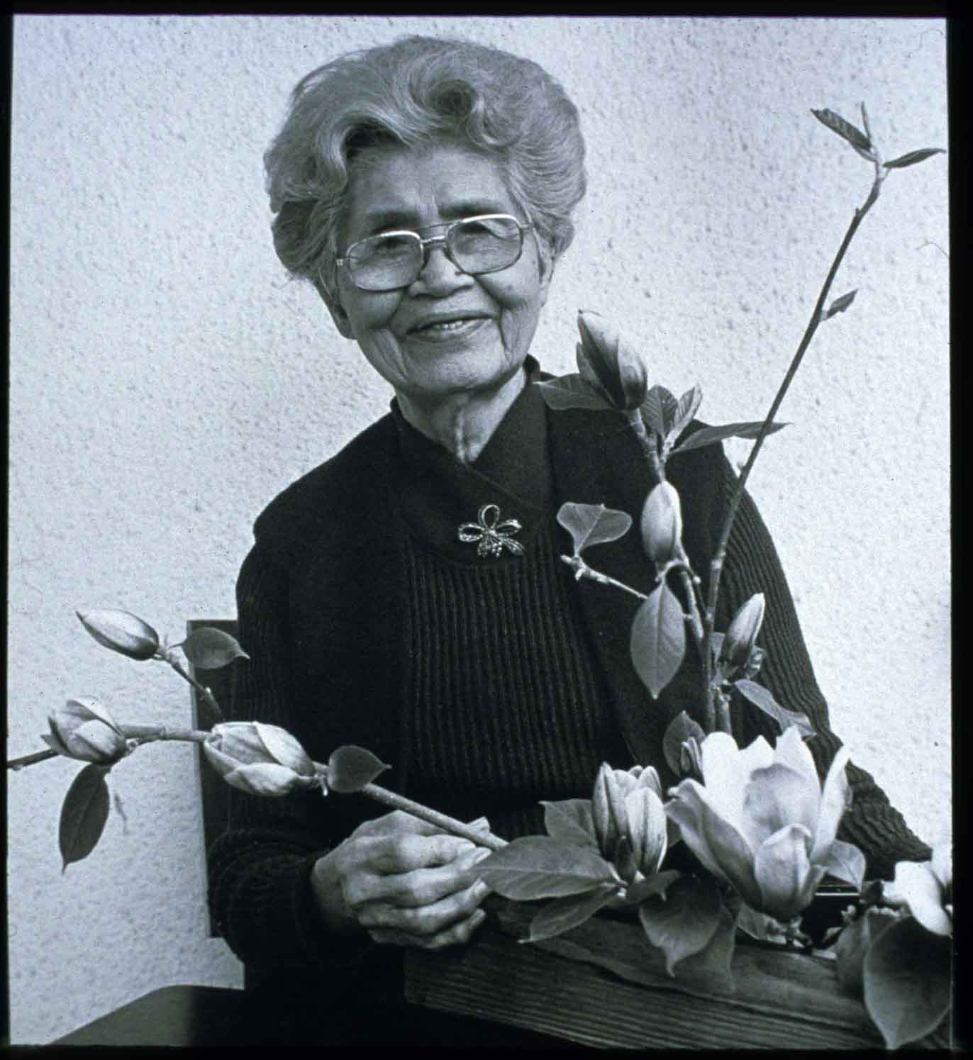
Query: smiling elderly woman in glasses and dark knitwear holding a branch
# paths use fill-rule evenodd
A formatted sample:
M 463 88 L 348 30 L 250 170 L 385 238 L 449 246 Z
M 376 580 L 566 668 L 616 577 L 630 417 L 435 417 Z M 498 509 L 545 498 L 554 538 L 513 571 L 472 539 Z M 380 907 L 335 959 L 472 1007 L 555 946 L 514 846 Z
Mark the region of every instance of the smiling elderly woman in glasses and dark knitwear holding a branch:
M 626 598 L 576 583 L 559 561 L 562 502 L 634 512 L 645 495 L 617 413 L 549 412 L 531 386 L 583 160 L 577 110 L 535 64 L 418 37 L 308 74 L 266 155 L 281 261 L 394 398 L 256 520 L 238 581 L 251 661 L 236 713 L 287 728 L 317 760 L 368 747 L 392 764 L 383 783 L 485 815 L 505 837 L 543 830 L 538 800 L 587 796 L 603 761 L 651 763 L 674 781 L 661 738 L 698 681 L 688 659 L 651 700 L 629 659 Z M 693 567 L 708 569 L 732 472 L 709 446 L 673 458 L 669 477 Z M 598 566 L 650 587 L 635 534 L 600 546 Z M 757 591 L 762 681 L 808 714 L 824 774 L 839 741 L 747 498 L 718 628 Z M 737 723 L 742 742 L 774 735 L 742 708 Z M 843 836 L 869 872 L 926 858 L 872 778 L 848 772 Z M 374 969 L 400 948 L 471 939 L 483 853 L 360 796 L 234 792 L 211 904 L 251 968 L 301 968 L 330 984 L 322 1005 L 368 969 L 372 1004 Z

